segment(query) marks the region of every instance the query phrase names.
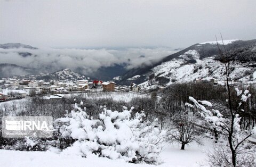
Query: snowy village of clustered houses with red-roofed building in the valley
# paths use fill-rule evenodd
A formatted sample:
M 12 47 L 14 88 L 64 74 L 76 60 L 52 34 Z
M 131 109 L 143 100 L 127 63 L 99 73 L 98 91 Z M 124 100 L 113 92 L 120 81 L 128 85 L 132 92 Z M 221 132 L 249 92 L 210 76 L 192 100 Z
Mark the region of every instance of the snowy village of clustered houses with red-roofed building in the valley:
M 79 75 L 70 69 L 65 69 L 51 74 L 51 79 L 56 80 L 42 79 L 46 76 L 43 73 L 2 78 L 0 80 L 0 102 L 34 95 L 44 95 L 47 96 L 45 99 L 51 99 L 62 98 L 65 94 L 83 92 L 134 91 L 138 93 L 140 91 L 140 87 L 132 82 L 130 86 L 118 86 L 114 81 L 90 80 L 90 78 Z

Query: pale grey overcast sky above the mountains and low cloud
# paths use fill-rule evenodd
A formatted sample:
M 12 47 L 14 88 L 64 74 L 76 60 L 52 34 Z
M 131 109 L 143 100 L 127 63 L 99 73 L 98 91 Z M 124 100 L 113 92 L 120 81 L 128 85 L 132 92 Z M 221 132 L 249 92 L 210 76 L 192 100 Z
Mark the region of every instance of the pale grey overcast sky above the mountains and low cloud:
M 0 43 L 53 48 L 188 47 L 256 38 L 256 1 L 0 0 Z

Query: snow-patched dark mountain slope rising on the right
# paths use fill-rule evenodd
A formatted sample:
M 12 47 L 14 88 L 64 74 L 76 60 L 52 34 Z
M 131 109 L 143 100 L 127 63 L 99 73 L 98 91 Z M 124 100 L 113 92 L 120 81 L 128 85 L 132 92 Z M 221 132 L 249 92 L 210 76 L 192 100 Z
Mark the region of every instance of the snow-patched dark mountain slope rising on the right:
M 223 43 L 227 49 L 229 59 L 233 60 L 231 63 L 231 78 L 237 81 L 255 80 L 256 40 L 227 40 Z M 162 63 L 147 71 L 133 73 L 133 76 L 141 76 L 140 80 L 133 80 L 133 82 L 140 84 L 142 89 L 152 89 L 177 82 L 195 81 L 199 78 L 206 80 L 215 78 L 222 81 L 225 68 L 224 64 L 217 60 L 217 55 L 218 46 L 216 42 L 195 44 L 168 56 Z M 126 81 L 130 79 L 130 77 L 125 78 L 124 76 L 122 78 Z M 141 80 L 142 78 L 144 81 Z

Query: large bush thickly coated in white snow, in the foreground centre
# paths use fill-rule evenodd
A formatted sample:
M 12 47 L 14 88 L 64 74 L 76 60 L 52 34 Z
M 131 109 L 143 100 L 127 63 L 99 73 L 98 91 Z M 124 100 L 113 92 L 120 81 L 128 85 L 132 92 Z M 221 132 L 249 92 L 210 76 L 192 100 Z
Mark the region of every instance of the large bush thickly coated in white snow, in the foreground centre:
M 124 107 L 122 112 L 102 108 L 100 119 L 93 119 L 77 105 L 75 110 L 55 121 L 61 137 L 75 140 L 61 154 L 83 157 L 95 154 L 132 163 L 161 163 L 158 154 L 162 151 L 165 131 L 143 122 L 143 112 L 131 119 L 133 108 L 128 111 Z

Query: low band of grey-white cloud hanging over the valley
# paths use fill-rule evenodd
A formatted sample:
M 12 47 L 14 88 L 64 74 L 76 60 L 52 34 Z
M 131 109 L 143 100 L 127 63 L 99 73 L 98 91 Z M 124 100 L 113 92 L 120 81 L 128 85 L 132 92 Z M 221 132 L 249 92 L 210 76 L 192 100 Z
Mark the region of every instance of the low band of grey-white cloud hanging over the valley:
M 23 57 L 19 52 L 32 55 Z M 126 63 L 126 68 L 137 68 L 142 63 L 150 64 L 174 52 L 170 48 L 127 48 L 127 49 L 0 49 L 0 62 L 17 64 L 28 68 L 53 72 L 65 68 L 83 69 L 90 74 L 101 67 Z M 144 57 L 141 57 L 144 55 Z M 130 61 L 128 61 L 130 59 Z

